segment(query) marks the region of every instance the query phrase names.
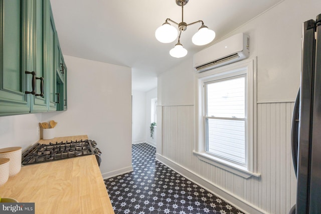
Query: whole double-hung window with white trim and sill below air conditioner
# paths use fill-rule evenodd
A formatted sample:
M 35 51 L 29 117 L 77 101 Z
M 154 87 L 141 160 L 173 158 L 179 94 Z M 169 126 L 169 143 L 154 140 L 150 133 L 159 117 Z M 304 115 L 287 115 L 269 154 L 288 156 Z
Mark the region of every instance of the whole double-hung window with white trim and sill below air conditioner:
M 201 160 L 243 177 L 254 172 L 255 75 L 253 60 L 198 74 L 198 141 Z

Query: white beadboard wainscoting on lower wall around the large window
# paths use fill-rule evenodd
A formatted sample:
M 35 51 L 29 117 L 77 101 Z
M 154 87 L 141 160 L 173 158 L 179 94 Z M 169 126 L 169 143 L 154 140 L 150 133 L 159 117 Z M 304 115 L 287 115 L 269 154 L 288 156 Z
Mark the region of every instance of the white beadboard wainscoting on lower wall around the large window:
M 156 159 L 248 213 L 288 213 L 296 198 L 291 156 L 293 102 L 257 104 L 257 169 L 248 179 L 193 154 L 194 105 L 163 106 Z M 159 119 L 161 119 L 159 118 Z M 161 132 L 162 130 L 162 132 Z

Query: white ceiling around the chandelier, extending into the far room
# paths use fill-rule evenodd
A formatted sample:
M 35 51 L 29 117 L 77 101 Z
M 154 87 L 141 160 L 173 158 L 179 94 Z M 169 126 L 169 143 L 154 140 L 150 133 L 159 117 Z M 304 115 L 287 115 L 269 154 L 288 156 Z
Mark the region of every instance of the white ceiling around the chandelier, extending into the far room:
M 190 0 L 184 22 L 203 20 L 216 32 L 215 43 L 280 1 Z M 155 30 L 167 18 L 181 22 L 175 0 L 51 0 L 51 6 L 63 54 L 132 68 L 132 90 L 155 88 L 158 74 L 204 48 L 192 43 L 200 24 L 182 33 L 185 58 L 169 54 L 177 41 L 163 44 L 155 39 Z

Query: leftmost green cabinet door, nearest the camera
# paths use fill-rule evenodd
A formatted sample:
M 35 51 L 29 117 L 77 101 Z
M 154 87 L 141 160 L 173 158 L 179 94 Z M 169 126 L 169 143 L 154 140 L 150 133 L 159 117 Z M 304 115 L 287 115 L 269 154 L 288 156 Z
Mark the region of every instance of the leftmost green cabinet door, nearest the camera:
M 0 115 L 30 112 L 25 94 L 28 71 L 27 32 L 28 3 L 19 0 L 0 0 Z M 31 70 L 29 70 L 31 72 Z

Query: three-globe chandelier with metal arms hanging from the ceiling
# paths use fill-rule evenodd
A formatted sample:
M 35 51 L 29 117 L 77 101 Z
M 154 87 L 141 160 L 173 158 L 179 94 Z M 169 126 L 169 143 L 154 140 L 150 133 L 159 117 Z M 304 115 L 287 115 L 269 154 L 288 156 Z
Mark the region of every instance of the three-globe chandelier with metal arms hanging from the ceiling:
M 156 39 L 162 43 L 171 43 L 174 40 L 176 40 L 177 36 L 179 37 L 177 44 L 170 51 L 170 55 L 172 57 L 181 58 L 181 57 L 185 57 L 187 55 L 187 50 L 180 43 L 181 34 L 183 31 L 186 31 L 187 26 L 194 25 L 197 23 L 202 23 L 198 32 L 196 32 L 196 34 L 194 34 L 194 36 L 192 37 L 192 42 L 195 45 L 201 46 L 201 45 L 209 44 L 215 38 L 215 32 L 212 30 L 209 30 L 208 27 L 204 25 L 204 22 L 202 20 L 199 20 L 197 22 L 193 22 L 190 24 L 186 24 L 183 21 L 184 5 L 186 5 L 188 2 L 189 2 L 189 0 L 176 0 L 176 4 L 178 6 L 182 6 L 182 22 L 181 23 L 174 22 L 171 19 L 166 19 L 165 23 L 161 27 L 157 28 L 155 31 Z M 169 22 L 172 22 L 178 26 L 178 30 L 179 30 L 180 34 L 178 33 L 177 29 L 174 26 L 172 26 Z

